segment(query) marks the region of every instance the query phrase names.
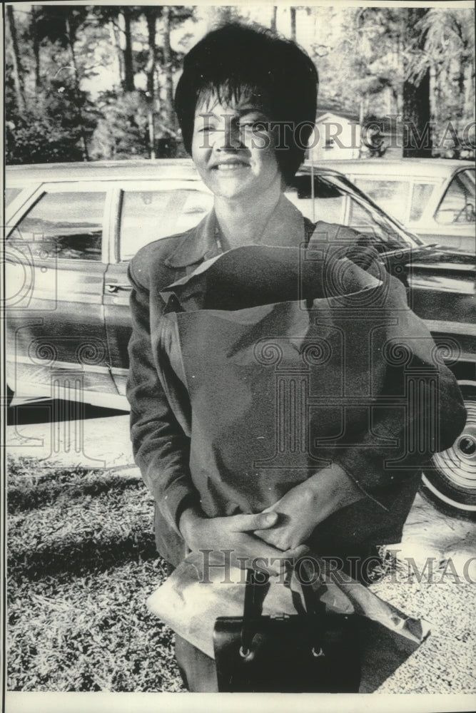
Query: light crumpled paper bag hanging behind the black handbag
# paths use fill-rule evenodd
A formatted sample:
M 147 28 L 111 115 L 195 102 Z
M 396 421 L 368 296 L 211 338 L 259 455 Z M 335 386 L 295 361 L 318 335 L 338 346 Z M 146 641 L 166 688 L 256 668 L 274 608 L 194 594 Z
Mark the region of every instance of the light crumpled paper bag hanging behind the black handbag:
M 414 652 L 430 633 L 424 620 L 415 619 L 383 601 L 360 583 L 326 569 L 320 558 L 322 580 L 313 583 L 328 611 L 363 615 L 360 658 L 361 693 L 375 691 Z M 201 553 L 192 553 L 148 597 L 149 610 L 178 635 L 213 658 L 213 627 L 217 617 L 243 615 L 245 571 L 223 564 L 223 555 L 203 565 Z M 282 578 L 270 578 L 263 615 L 296 613 L 293 592 Z

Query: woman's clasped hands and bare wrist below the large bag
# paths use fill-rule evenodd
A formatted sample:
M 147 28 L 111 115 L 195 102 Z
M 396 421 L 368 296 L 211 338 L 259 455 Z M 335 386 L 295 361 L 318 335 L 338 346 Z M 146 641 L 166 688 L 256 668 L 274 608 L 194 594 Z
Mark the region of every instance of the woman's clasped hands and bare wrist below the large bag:
M 298 483 L 262 513 L 206 518 L 188 508 L 179 528 L 191 550 L 232 550 L 234 561 L 264 558 L 268 570 L 279 574 L 286 559 L 307 551 L 305 541 L 319 523 L 360 498 L 363 492 L 333 465 Z

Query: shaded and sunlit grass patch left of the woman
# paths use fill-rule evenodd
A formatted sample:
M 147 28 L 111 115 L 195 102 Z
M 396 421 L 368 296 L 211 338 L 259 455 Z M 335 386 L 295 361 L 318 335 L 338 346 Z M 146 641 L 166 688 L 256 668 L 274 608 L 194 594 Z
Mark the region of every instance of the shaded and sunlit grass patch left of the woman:
M 8 689 L 183 690 L 142 481 L 19 458 L 8 492 Z

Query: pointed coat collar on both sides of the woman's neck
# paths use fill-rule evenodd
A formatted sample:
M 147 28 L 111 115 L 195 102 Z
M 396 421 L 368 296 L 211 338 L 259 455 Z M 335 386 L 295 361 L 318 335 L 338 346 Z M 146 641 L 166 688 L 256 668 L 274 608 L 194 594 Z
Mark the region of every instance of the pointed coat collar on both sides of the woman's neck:
M 201 222 L 186 232 L 176 250 L 164 261 L 167 267 L 189 267 L 203 260 L 220 255 L 223 250 L 216 240 L 217 221 L 215 211 L 206 215 Z M 297 247 L 305 240 L 303 214 L 285 195 L 281 194 L 278 205 L 265 227 L 260 245 Z

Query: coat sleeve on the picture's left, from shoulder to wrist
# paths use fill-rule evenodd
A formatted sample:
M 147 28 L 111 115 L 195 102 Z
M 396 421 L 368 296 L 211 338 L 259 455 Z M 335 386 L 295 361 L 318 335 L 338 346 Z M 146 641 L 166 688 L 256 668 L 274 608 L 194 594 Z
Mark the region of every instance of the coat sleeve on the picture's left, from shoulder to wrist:
M 133 456 L 163 518 L 180 535 L 181 513 L 198 501 L 188 464 L 190 439 L 173 415 L 158 376 L 151 344 L 150 294 L 136 278 L 133 261 L 128 277 L 132 334 L 126 393 L 131 404 Z

